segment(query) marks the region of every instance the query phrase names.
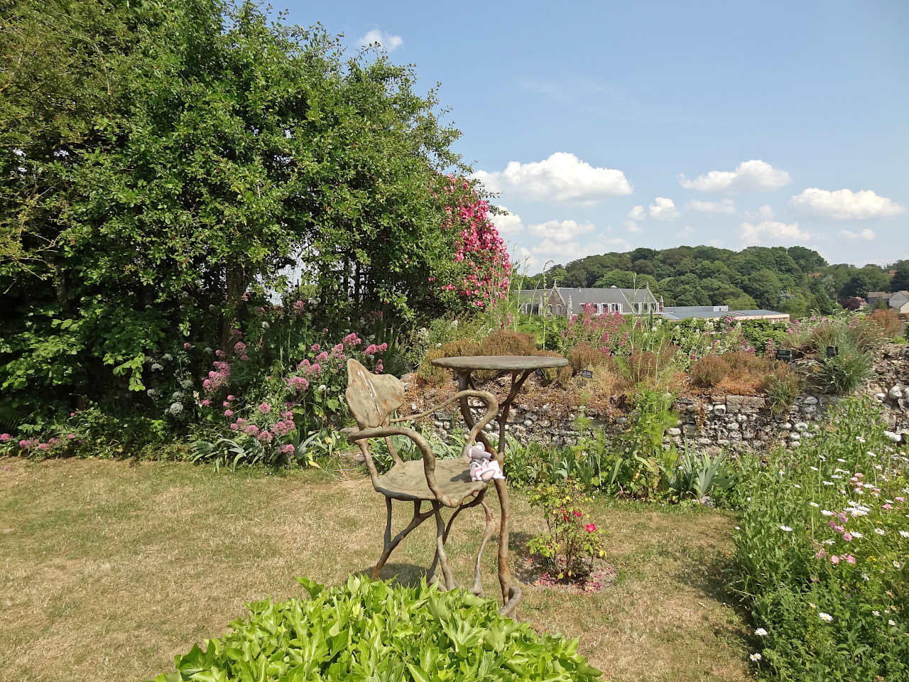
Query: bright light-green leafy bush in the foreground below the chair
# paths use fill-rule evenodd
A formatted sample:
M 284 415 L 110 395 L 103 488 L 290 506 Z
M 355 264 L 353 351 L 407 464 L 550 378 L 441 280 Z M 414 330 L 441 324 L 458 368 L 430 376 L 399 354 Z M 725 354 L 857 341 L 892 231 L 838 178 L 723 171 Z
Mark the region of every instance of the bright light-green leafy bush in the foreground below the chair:
M 351 576 L 326 588 L 297 578 L 309 599 L 248 605 L 245 621 L 175 657 L 155 682 L 587 682 L 599 670 L 577 640 L 537 635 L 493 601 L 453 590 Z

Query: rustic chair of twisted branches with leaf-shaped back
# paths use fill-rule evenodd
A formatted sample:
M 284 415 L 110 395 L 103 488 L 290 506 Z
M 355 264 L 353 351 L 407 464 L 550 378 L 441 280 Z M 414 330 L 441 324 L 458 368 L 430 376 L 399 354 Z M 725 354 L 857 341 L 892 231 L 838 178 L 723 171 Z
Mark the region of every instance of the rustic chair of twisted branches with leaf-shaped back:
M 435 557 L 429 568 L 428 576 L 430 582 L 438 581 L 435 568 L 441 566 L 441 587 L 445 589 L 456 587 L 448 557 L 445 555 L 445 541 L 448 539 L 448 532 L 451 530 L 454 518 L 461 513 L 461 510 L 479 505 L 485 512 L 486 524 L 474 564 L 474 586 L 471 588 L 471 592 L 483 596 L 483 586 L 480 581 L 480 558 L 486 543 L 493 535 L 494 517 L 484 501 L 486 487 L 489 486 L 489 483 L 471 480 L 470 460 L 466 453 L 467 448 L 474 444 L 477 434 L 497 416 L 498 404 L 495 396 L 488 391 L 463 390 L 422 414 L 391 419 L 392 413 L 402 406 L 405 400 L 405 387 L 398 378 L 371 374 L 365 366 L 354 359 L 347 360 L 347 377 L 345 396 L 350 413 L 354 416 L 358 427 L 347 428 L 345 433 L 363 452 L 366 468 L 369 469 L 369 476 L 373 480 L 373 487 L 376 492 L 385 496 L 387 511 L 385 547 L 373 569 L 372 577 L 375 579 L 379 576 L 379 571 L 385 566 L 392 551 L 411 531 L 419 527 L 427 518 L 435 517 Z M 423 436 L 412 428 L 396 426 L 400 422 L 428 416 L 443 406 L 469 398 L 483 401 L 486 405 L 486 412 L 470 430 L 464 452 L 457 459 L 436 460 L 432 447 Z M 402 461 L 395 450 L 391 436 L 410 438 L 419 448 L 423 459 Z M 395 465 L 385 474 L 379 474 L 375 468 L 375 462 L 369 449 L 370 438 L 385 438 L 388 451 L 395 461 Z M 414 503 L 413 519 L 395 537 L 392 537 L 393 499 Z M 429 503 L 429 508 L 423 510 L 421 507 L 425 502 Z M 447 524 L 442 517 L 443 506 L 454 509 Z

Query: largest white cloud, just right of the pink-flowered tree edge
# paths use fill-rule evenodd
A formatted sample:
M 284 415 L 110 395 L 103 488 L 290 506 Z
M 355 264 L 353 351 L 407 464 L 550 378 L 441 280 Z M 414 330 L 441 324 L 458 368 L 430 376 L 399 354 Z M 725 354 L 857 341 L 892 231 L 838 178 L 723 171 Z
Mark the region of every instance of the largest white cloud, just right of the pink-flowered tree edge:
M 477 171 L 475 177 L 494 192 L 514 193 L 530 201 L 573 202 L 589 206 L 607 196 L 632 193 L 624 173 L 590 165 L 574 154 L 555 152 L 543 161 L 509 161 L 504 171 Z

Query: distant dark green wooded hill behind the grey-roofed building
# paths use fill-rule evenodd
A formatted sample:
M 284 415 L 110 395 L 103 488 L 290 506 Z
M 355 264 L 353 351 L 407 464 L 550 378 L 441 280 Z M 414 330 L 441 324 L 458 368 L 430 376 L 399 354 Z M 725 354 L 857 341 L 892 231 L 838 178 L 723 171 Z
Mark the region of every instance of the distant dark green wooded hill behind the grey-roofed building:
M 894 272 L 895 271 L 895 272 Z M 891 275 L 891 272 L 894 272 Z M 534 286 L 650 286 L 666 306 L 720 306 L 734 310 L 771 308 L 792 315 L 834 311 L 838 301 L 869 291 L 909 289 L 909 260 L 890 266 L 829 265 L 804 246 L 749 246 L 742 251 L 714 246 L 586 256 L 527 277 Z

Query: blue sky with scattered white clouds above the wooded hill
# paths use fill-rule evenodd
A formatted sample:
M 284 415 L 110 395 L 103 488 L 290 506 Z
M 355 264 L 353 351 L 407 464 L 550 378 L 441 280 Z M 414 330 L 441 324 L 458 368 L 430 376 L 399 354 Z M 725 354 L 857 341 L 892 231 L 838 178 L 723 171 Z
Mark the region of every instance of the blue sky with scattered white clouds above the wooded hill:
M 287 6 L 441 82 L 531 272 L 682 244 L 909 257 L 905 0 Z

